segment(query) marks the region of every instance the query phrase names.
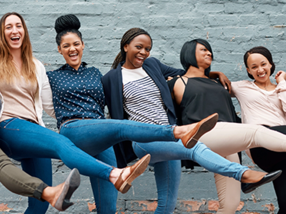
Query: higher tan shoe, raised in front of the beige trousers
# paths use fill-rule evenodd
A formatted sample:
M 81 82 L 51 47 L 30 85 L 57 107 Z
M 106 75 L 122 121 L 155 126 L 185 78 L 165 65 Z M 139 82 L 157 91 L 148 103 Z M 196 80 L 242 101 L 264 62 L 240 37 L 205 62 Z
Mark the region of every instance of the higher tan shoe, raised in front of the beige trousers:
M 215 113 L 198 122 L 196 126 L 181 139 L 184 146 L 188 149 L 193 148 L 203 134 L 215 127 L 218 119 L 219 114 Z

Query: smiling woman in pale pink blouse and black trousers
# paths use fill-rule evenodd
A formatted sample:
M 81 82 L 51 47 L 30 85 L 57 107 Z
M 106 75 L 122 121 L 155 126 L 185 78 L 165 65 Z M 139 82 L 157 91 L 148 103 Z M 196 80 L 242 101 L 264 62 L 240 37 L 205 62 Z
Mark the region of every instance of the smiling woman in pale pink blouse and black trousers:
M 276 84 L 271 82 L 275 64 L 265 47 L 254 47 L 247 51 L 244 63 L 253 81 L 243 80 L 231 84 L 232 95 L 241 106 L 242 122 L 261 124 L 286 134 L 286 73 L 278 71 L 275 75 Z M 286 213 L 286 153 L 252 148 L 250 154 L 264 171 L 282 169 L 281 176 L 273 181 L 273 185 L 279 205 L 278 214 Z

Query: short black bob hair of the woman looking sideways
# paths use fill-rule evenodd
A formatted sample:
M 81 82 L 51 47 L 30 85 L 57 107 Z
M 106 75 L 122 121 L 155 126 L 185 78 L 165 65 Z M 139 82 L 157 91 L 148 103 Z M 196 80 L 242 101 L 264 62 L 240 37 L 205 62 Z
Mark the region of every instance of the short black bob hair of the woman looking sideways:
M 185 42 L 185 44 L 183 45 L 183 47 L 181 49 L 180 60 L 181 60 L 181 64 L 182 64 L 183 68 L 186 71 L 189 69 L 190 66 L 194 66 L 194 67 L 198 68 L 198 64 L 196 62 L 196 45 L 197 45 L 197 43 L 200 43 L 201 45 L 206 47 L 206 49 L 208 49 L 208 51 L 212 54 L 212 59 L 213 59 L 212 48 L 210 47 L 210 44 L 206 40 L 194 39 L 192 41 Z M 204 75 L 206 75 L 208 77 L 209 74 L 210 74 L 210 66 L 204 70 Z

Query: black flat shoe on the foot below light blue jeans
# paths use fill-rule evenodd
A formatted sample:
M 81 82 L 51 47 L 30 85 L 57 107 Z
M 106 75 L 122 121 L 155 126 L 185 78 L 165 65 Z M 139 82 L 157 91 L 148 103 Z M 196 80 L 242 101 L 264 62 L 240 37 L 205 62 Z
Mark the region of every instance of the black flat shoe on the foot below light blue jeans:
M 256 183 L 241 183 L 241 190 L 243 191 L 243 193 L 250 193 L 257 187 L 275 180 L 277 177 L 279 177 L 279 175 L 281 175 L 281 173 L 282 170 L 277 170 L 264 175 L 264 177 Z

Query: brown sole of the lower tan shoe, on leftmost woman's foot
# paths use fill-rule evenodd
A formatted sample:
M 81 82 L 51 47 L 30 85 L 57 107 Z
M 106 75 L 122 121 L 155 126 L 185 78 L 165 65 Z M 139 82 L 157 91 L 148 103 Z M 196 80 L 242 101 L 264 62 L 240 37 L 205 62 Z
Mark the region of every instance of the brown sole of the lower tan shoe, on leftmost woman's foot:
M 147 168 L 149 162 L 150 162 L 150 154 L 144 156 L 144 158 L 142 158 L 141 163 L 138 164 L 138 166 L 134 169 L 134 171 L 129 175 L 129 177 L 123 182 L 123 184 L 121 185 L 119 191 L 121 193 L 127 193 L 128 190 L 130 189 L 130 187 L 132 186 L 131 183 L 132 181 L 134 181 L 134 179 L 136 177 L 138 177 L 139 175 L 141 175 L 145 169 Z

